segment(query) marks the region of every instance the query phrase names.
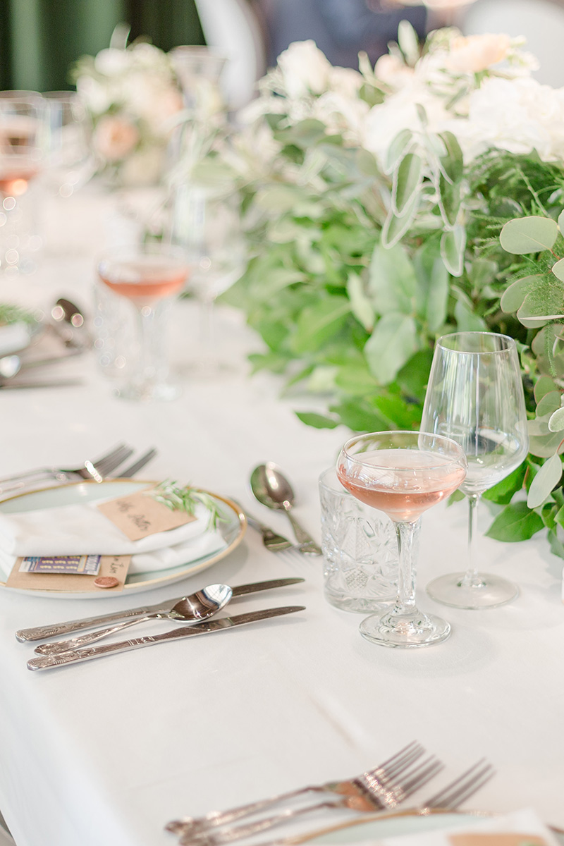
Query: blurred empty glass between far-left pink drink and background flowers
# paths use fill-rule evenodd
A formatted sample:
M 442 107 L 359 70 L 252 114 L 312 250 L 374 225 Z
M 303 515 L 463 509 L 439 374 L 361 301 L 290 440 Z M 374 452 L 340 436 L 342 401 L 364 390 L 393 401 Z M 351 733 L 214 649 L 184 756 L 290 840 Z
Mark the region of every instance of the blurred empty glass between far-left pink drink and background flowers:
M 69 197 L 96 172 L 92 127 L 83 102 L 73 91 L 47 91 L 47 162 L 42 182 L 52 193 Z

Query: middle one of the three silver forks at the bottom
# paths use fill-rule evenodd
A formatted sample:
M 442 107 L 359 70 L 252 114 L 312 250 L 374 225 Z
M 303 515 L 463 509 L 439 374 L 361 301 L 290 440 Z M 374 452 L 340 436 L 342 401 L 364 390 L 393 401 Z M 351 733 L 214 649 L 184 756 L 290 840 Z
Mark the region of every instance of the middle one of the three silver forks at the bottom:
M 430 755 L 421 764 L 406 772 L 401 778 L 390 778 L 384 785 L 380 780 L 363 774 L 355 779 L 359 792 L 355 795 L 343 796 L 336 802 L 320 802 L 317 805 L 307 805 L 304 808 L 282 810 L 274 816 L 267 816 L 249 825 L 223 829 L 216 834 L 195 832 L 180 838 L 181 846 L 222 846 L 223 843 L 233 843 L 235 840 L 252 837 L 269 828 L 282 825 L 298 816 L 310 814 L 315 810 L 332 810 L 333 808 L 350 808 L 365 813 L 375 810 L 391 810 L 401 805 L 408 796 L 423 787 L 437 772 L 443 768 L 441 761 Z

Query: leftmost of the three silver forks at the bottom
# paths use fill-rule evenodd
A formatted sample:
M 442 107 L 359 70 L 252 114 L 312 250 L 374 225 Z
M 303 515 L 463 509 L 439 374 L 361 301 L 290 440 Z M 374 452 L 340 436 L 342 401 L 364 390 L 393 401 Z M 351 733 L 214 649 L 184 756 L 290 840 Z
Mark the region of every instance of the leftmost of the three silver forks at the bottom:
M 205 832 L 208 829 L 226 825 L 244 816 L 251 816 L 260 810 L 271 808 L 273 805 L 279 805 L 288 799 L 295 799 L 298 796 L 309 793 L 334 793 L 345 796 L 351 794 L 364 795 L 365 791 L 363 783 L 360 781 L 361 779 L 370 778 L 373 783 L 380 784 L 382 789 L 387 788 L 391 784 L 392 779 L 399 777 L 408 766 L 419 760 L 421 755 L 424 755 L 423 746 L 413 741 L 379 766 L 375 766 L 360 776 L 349 778 L 346 781 L 307 785 L 304 788 L 290 790 L 288 793 L 250 802 L 248 805 L 238 805 L 238 807 L 230 808 L 229 810 L 211 810 L 205 816 L 183 817 L 182 820 L 169 822 L 166 828 L 169 832 L 185 835 Z

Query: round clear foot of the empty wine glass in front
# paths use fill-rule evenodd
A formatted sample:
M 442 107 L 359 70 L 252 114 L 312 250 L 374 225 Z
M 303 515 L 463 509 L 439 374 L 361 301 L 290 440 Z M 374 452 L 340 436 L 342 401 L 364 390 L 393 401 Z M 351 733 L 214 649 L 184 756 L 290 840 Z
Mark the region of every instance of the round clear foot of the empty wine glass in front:
M 502 579 L 501 576 L 480 573 L 477 576 L 477 584 L 467 586 L 463 584 L 464 575 L 449 573 L 439 576 L 427 585 L 427 593 L 435 602 L 468 610 L 497 608 L 512 602 L 519 595 L 517 585 Z

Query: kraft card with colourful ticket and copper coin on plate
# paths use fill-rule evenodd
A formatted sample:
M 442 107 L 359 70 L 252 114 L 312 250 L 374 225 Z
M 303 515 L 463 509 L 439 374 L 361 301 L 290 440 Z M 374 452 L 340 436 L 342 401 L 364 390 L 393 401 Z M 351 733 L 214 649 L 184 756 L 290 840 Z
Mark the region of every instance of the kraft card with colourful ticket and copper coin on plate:
M 118 593 L 123 591 L 130 561 L 130 555 L 18 558 L 6 586 L 25 591 Z

